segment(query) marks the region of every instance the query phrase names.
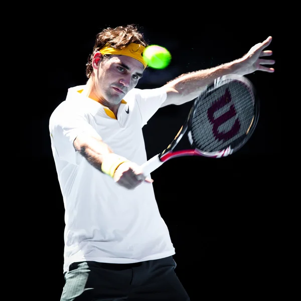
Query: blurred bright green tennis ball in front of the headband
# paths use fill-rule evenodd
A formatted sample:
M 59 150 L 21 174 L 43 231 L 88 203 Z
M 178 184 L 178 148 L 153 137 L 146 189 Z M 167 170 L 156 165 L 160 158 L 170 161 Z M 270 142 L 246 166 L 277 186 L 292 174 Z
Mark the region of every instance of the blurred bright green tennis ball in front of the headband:
M 143 51 L 143 58 L 149 67 L 154 69 L 166 68 L 172 59 L 170 52 L 159 45 L 149 45 Z

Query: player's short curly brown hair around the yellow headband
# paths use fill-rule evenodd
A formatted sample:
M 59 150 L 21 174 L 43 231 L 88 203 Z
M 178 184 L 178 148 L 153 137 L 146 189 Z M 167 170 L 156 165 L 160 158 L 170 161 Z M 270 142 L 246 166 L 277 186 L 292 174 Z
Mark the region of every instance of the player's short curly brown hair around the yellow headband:
M 88 62 L 86 64 L 86 76 L 90 78 L 93 67 L 92 59 L 96 51 L 99 51 L 106 44 L 112 48 L 122 49 L 130 43 L 140 44 L 144 47 L 148 46 L 148 43 L 143 37 L 143 34 L 138 30 L 138 26 L 130 24 L 126 26 L 118 26 L 116 28 L 106 28 L 96 35 L 93 51 L 89 54 Z M 104 55 L 104 57 L 110 55 Z

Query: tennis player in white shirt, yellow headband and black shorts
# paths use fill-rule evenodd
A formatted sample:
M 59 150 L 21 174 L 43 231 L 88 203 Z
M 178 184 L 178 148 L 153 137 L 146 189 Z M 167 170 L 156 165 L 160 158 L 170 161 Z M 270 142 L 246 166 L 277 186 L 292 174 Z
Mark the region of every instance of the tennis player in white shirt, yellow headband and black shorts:
M 183 74 L 156 89 L 135 88 L 147 43 L 135 25 L 100 32 L 87 82 L 70 87 L 49 120 L 65 207 L 61 301 L 189 300 L 175 248 L 158 210 L 142 127 L 163 106 L 195 99 L 226 74 L 274 72 L 268 37 L 243 57 Z M 76 51 L 76 50 L 72 50 Z

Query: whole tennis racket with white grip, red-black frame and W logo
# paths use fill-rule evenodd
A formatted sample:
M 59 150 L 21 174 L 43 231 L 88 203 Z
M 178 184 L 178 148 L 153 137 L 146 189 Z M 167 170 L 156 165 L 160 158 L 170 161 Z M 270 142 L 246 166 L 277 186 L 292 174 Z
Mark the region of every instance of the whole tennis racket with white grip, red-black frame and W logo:
M 174 140 L 142 165 L 144 175 L 180 156 L 223 158 L 239 150 L 251 137 L 259 117 L 259 99 L 244 76 L 226 75 L 194 100 L 188 118 Z M 175 150 L 187 135 L 191 148 Z

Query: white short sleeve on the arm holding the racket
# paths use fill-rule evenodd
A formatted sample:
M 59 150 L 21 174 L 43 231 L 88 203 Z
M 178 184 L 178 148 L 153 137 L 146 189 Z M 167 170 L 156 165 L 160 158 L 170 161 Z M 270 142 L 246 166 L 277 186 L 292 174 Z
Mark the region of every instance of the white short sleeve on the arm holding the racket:
M 74 148 L 75 138 L 82 132 L 97 134 L 89 124 L 88 115 L 81 109 L 70 106 L 68 101 L 61 103 L 50 116 L 49 131 L 53 152 L 56 152 L 60 160 L 74 165 L 78 165 L 82 158 Z

